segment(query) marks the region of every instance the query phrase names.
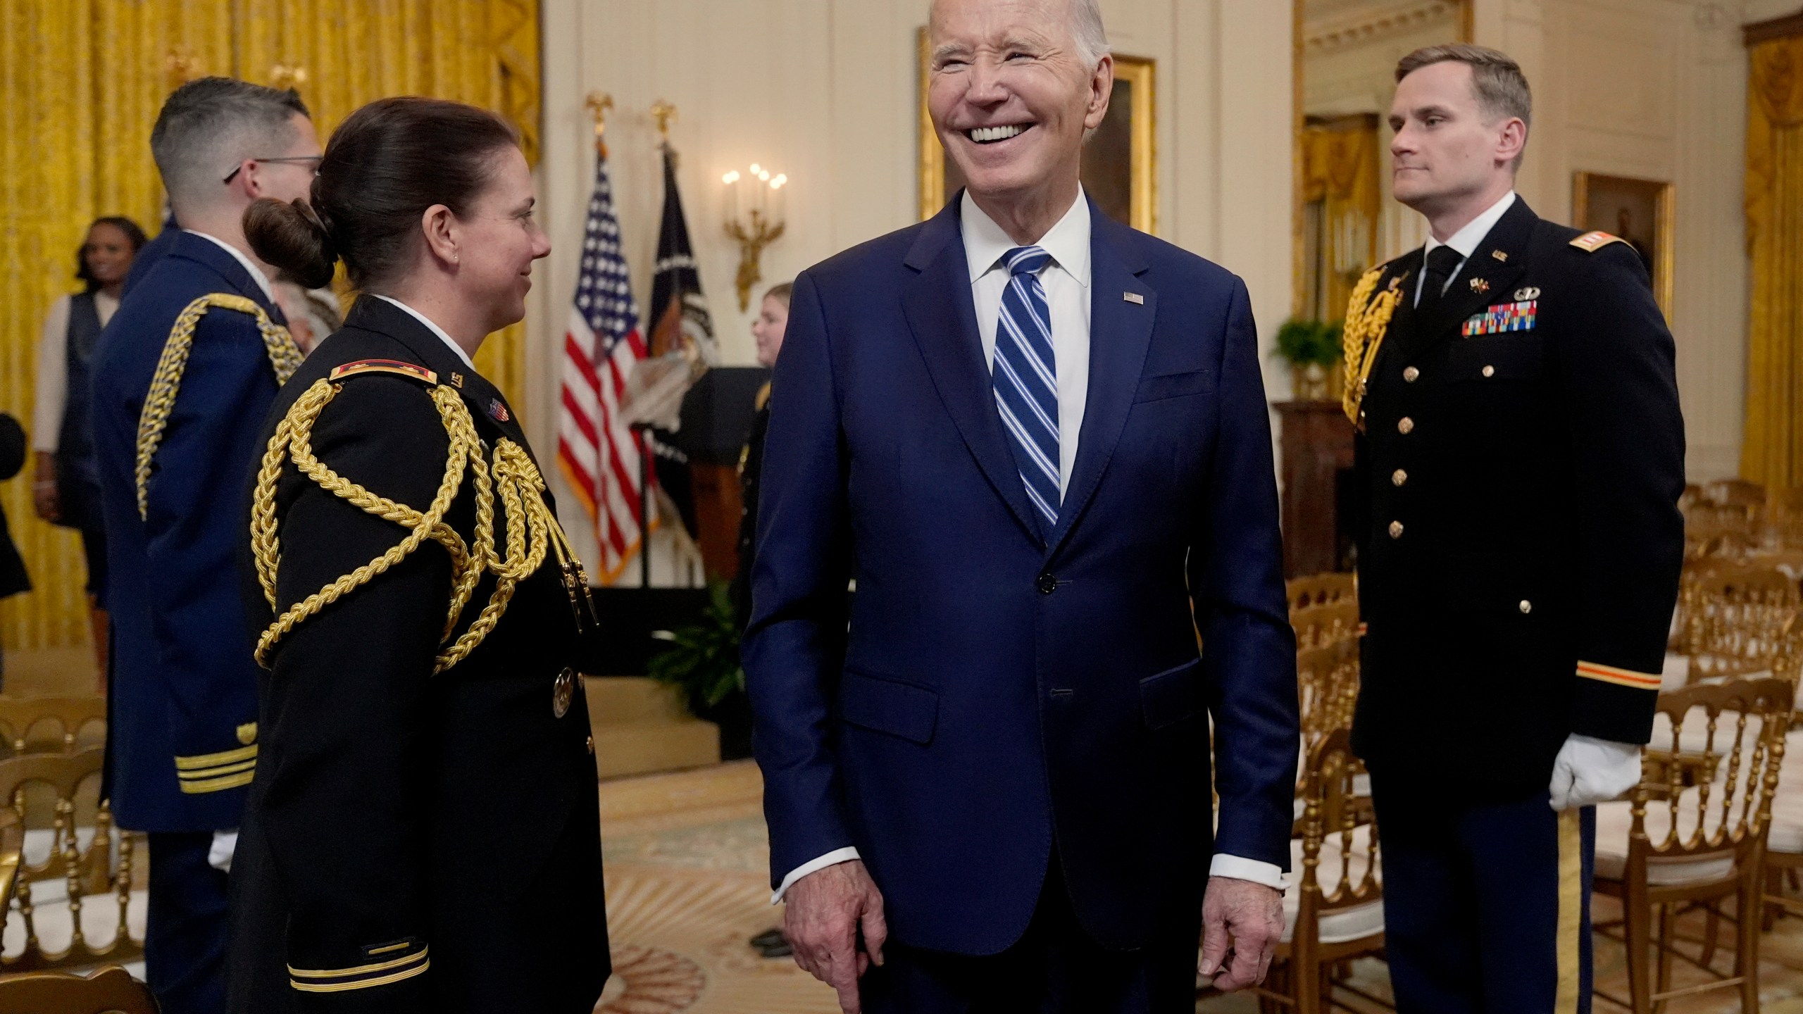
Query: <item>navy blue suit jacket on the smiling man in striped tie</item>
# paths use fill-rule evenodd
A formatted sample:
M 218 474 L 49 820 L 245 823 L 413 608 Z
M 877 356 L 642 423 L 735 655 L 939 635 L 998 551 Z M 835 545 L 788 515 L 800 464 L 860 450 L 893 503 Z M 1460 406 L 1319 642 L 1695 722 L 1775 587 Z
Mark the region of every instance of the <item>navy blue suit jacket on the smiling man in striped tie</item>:
M 1089 933 L 1138 947 L 1195 926 L 1215 850 L 1289 861 L 1295 637 L 1246 287 L 1091 206 L 1089 402 L 1042 541 L 957 206 L 795 281 L 745 637 L 772 880 L 856 846 L 896 940 L 990 954 L 1057 843 Z

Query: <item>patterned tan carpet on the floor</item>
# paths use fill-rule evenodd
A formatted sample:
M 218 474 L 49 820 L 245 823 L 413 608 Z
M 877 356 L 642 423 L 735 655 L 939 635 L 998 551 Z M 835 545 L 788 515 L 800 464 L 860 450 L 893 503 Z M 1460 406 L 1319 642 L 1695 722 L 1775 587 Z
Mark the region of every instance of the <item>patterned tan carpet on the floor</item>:
M 602 846 L 608 862 L 608 926 L 615 980 L 597 1014 L 835 1014 L 833 992 L 790 958 L 759 958 L 746 940 L 779 920 L 770 908 L 768 843 L 759 810 L 763 783 L 748 763 L 680 774 L 608 781 L 600 787 Z M 1596 900 L 1599 920 L 1619 917 L 1610 899 Z M 1724 926 L 1724 935 L 1731 927 Z M 1688 917 L 1680 935 L 1700 936 L 1702 917 Z M 1733 944 L 1724 942 L 1725 969 Z M 1597 982 L 1626 996 L 1623 947 L 1597 940 Z M 1354 982 L 1390 994 L 1383 962 L 1359 962 Z M 1673 985 L 1706 974 L 1682 965 Z M 1803 1014 L 1803 918 L 1781 920 L 1762 942 L 1760 1010 Z M 1358 1001 L 1354 1001 L 1358 1003 Z M 1197 1014 L 1255 1014 L 1251 996 L 1199 1001 Z M 1352 1007 L 1352 1010 L 1377 1010 Z M 1623 1010 L 1605 1000 L 1597 1014 Z M 1675 1000 L 1666 1014 L 1729 1014 L 1733 991 Z

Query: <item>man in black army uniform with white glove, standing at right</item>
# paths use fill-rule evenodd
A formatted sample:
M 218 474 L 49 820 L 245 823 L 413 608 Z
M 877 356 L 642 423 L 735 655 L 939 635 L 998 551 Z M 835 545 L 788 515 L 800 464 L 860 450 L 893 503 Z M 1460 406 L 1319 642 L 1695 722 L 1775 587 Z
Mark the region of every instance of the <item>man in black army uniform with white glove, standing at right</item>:
M 1594 805 L 1635 785 L 1684 529 L 1673 343 L 1634 249 L 1515 195 L 1507 56 L 1397 67 L 1424 249 L 1347 312 L 1365 621 L 1352 742 L 1397 1009 L 1590 1009 Z

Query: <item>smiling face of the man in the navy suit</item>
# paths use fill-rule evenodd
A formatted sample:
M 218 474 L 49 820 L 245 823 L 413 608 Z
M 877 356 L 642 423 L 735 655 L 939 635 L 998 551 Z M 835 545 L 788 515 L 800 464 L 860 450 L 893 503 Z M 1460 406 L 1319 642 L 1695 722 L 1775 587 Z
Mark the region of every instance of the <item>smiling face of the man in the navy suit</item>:
M 1102 124 L 1114 61 L 1089 63 L 1071 0 L 938 0 L 927 110 L 970 193 L 1075 200 L 1084 132 Z

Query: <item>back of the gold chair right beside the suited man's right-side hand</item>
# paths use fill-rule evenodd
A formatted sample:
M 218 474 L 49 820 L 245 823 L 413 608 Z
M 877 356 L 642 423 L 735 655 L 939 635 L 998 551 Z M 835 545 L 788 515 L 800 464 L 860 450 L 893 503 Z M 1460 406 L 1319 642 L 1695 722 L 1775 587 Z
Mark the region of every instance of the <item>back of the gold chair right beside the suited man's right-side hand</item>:
M 1376 812 L 1354 785 L 1363 772 L 1350 729 L 1334 729 L 1309 751 L 1302 817 L 1293 828 L 1302 839 L 1298 945 L 1323 915 L 1383 897 Z

